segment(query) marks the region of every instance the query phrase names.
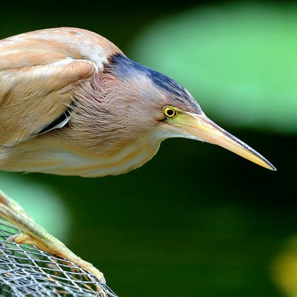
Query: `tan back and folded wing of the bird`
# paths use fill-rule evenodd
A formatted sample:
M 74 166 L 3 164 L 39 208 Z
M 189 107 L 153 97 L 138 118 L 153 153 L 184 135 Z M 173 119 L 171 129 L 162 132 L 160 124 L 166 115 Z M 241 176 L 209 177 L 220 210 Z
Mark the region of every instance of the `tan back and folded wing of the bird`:
M 69 120 L 74 86 L 121 52 L 96 33 L 47 29 L 0 41 L 0 145 L 11 146 Z

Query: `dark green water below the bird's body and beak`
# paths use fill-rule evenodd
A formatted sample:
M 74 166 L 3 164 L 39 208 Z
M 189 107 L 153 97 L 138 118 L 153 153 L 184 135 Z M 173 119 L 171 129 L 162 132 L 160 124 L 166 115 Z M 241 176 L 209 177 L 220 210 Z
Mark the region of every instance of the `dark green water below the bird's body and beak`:
M 270 267 L 296 232 L 295 204 L 286 195 L 293 171 L 282 150 L 271 149 L 284 139 L 241 137 L 260 144 L 279 170 L 178 139 L 126 175 L 33 176 L 57 189 L 71 210 L 67 245 L 104 271 L 120 296 L 277 295 Z

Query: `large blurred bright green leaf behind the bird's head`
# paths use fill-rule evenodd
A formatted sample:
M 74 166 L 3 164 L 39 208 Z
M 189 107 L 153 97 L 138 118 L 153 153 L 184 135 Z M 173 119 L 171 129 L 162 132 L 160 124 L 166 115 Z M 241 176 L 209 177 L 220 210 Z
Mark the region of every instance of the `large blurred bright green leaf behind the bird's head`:
M 229 4 L 152 23 L 132 55 L 171 75 L 210 116 L 297 133 L 297 6 Z

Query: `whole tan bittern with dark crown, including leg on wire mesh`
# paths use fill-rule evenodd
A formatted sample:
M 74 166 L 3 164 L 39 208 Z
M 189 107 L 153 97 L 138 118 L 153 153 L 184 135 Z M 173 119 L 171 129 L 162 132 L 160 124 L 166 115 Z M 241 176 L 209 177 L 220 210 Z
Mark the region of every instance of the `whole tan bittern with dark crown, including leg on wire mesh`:
M 0 41 L 0 169 L 96 177 L 142 166 L 161 141 L 191 138 L 276 170 L 208 119 L 164 74 L 138 64 L 100 35 L 39 30 Z M 0 214 L 25 233 L 13 240 L 103 275 L 1 195 Z

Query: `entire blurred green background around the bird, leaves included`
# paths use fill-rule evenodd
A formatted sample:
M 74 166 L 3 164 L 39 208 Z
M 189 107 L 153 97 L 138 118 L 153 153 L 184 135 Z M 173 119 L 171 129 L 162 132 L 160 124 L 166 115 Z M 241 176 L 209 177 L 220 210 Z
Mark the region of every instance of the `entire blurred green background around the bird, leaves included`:
M 125 175 L 0 173 L 0 189 L 119 296 L 297 296 L 294 1 L 1 3 L 0 38 L 60 26 L 176 79 L 278 171 L 171 139 Z

